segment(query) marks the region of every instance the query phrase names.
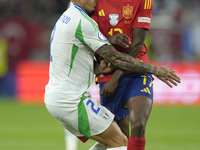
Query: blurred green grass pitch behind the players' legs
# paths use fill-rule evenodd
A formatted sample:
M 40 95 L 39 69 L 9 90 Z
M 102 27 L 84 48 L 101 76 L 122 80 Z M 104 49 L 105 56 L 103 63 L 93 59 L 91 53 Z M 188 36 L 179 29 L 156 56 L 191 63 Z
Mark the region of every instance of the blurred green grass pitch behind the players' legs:
M 44 105 L 0 100 L 0 150 L 65 150 L 64 129 Z M 200 150 L 200 107 L 153 106 L 146 150 Z

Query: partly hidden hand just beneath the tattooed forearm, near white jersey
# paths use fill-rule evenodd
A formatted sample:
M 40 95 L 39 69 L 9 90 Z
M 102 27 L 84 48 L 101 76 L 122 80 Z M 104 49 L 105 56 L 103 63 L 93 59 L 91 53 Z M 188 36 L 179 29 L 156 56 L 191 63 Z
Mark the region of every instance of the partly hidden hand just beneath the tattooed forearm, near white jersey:
M 115 69 L 116 67 L 113 66 L 110 62 L 107 62 L 104 59 L 100 61 L 99 70 L 101 73 L 109 73 Z

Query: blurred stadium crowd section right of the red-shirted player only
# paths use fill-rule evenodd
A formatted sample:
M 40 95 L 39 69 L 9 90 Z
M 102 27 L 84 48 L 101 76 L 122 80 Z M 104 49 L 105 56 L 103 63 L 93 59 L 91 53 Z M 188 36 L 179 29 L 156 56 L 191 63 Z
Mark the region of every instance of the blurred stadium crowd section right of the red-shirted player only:
M 200 0 L 154 0 L 151 58 L 200 60 Z

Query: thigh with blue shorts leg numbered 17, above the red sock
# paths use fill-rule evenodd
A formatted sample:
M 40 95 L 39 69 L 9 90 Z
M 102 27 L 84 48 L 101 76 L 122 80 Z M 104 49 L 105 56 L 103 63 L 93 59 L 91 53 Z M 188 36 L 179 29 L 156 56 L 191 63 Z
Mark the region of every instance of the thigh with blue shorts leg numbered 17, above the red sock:
M 124 94 L 131 125 L 145 125 L 153 104 L 153 78 L 150 74 L 135 73 Z

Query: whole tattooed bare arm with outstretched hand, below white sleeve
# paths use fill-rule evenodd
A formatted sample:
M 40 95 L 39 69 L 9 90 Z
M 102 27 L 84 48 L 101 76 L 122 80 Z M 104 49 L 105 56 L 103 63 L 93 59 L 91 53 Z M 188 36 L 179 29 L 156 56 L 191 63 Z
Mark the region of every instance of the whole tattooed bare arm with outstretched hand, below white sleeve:
M 173 87 L 171 84 L 177 86 L 176 82 L 180 83 L 180 78 L 174 73 L 175 70 L 167 66 L 155 66 L 141 62 L 130 55 L 118 52 L 112 45 L 105 44 L 96 52 L 117 68 L 132 72 L 154 74 L 170 87 Z

